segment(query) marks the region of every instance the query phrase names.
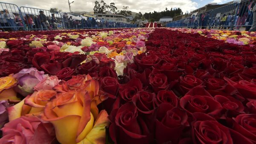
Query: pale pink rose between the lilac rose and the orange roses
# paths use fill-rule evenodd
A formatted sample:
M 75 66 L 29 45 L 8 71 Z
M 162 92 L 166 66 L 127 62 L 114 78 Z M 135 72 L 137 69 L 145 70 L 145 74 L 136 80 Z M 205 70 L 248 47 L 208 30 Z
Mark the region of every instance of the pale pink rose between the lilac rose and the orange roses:
M 52 90 L 60 81 L 57 76 L 48 76 L 35 85 L 34 90 Z

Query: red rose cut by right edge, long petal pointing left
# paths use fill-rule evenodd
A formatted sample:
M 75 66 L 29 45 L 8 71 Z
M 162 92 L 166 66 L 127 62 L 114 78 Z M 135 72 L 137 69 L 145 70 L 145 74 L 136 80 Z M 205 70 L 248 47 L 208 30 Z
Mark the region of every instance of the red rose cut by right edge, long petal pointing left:
M 256 99 L 256 84 L 241 80 L 239 82 L 233 82 L 231 79 L 224 77 L 227 83 L 236 88 L 238 92 L 247 99 Z

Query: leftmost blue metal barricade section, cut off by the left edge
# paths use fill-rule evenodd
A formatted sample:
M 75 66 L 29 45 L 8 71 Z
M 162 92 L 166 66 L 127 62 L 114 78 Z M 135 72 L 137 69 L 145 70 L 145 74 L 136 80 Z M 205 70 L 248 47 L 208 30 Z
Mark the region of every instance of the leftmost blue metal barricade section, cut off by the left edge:
M 2 31 L 22 31 L 24 30 L 23 19 L 17 5 L 11 3 L 2 3 L 0 14 L 0 29 Z

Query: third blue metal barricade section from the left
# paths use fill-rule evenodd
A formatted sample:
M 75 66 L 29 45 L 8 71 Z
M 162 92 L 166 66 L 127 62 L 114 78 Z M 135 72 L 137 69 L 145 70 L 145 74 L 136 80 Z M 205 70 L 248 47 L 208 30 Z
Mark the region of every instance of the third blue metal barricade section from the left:
M 81 15 L 73 15 L 68 13 L 61 13 L 65 29 L 81 29 L 84 28 Z

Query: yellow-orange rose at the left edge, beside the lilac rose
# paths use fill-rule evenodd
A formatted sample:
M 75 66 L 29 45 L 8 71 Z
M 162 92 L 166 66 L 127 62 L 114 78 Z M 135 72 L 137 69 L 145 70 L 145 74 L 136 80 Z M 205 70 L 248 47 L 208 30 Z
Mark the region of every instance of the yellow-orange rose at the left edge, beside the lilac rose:
M 13 87 L 17 85 L 17 80 L 12 77 L 13 74 L 0 78 L 0 101 L 2 100 L 20 100 L 17 98 L 17 93 Z

